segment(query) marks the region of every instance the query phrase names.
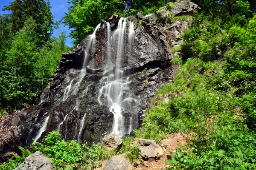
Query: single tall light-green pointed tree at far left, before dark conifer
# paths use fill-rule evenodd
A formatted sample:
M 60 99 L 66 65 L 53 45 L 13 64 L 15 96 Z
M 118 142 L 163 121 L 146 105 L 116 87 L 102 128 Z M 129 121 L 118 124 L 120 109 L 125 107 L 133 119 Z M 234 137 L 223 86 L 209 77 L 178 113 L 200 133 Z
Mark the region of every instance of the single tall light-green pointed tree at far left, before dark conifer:
M 35 20 L 29 18 L 17 32 L 12 46 L 5 54 L 3 70 L 0 73 L 0 98 L 2 107 L 17 106 L 35 98 L 38 85 L 34 79 L 37 37 Z M 32 85 L 33 84 L 33 85 Z

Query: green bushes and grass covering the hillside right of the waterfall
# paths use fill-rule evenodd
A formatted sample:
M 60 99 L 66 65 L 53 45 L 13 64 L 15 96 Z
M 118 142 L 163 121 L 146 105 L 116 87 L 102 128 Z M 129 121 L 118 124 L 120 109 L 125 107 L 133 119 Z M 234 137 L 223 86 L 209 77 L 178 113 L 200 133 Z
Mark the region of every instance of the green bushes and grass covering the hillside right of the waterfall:
M 188 147 L 166 161 L 169 169 L 253 170 L 256 4 L 200 2 L 202 13 L 194 14 L 182 35 L 186 59 L 171 61 L 182 67 L 151 99 L 143 128 L 134 133 L 157 141 L 169 133 L 188 134 Z

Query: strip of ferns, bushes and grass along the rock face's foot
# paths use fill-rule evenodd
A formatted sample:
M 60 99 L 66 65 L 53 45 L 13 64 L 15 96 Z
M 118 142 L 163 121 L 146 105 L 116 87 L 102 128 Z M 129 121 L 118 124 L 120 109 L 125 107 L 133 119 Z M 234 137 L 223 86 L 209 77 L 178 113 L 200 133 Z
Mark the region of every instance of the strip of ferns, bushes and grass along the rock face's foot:
M 138 161 L 140 150 L 137 145 L 131 146 L 134 137 L 123 139 L 122 147 L 117 150 L 106 150 L 103 142 L 88 146 L 87 143 L 80 145 L 76 141 L 61 140 L 57 131 L 52 131 L 46 136 L 42 143 L 35 142 L 31 145 L 32 150 L 19 147 L 22 156 L 13 154 L 7 162 L 0 164 L 0 170 L 12 170 L 20 165 L 27 156 L 40 151 L 52 159 L 52 164 L 58 170 L 93 170 L 101 167 L 101 161 L 110 159 L 116 154 L 126 153 L 129 161 Z

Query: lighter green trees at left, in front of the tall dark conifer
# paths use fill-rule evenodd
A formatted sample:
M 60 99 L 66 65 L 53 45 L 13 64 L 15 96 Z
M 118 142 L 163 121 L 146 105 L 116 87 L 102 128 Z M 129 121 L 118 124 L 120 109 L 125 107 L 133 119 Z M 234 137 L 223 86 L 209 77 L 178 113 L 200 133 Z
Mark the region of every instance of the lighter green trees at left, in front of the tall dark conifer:
M 64 44 L 64 33 L 38 48 L 36 27 L 35 20 L 29 18 L 13 40 L 6 42 L 11 45 L 9 49 L 0 50 L 0 107 L 7 111 L 37 99 L 49 84 L 61 54 L 69 49 Z

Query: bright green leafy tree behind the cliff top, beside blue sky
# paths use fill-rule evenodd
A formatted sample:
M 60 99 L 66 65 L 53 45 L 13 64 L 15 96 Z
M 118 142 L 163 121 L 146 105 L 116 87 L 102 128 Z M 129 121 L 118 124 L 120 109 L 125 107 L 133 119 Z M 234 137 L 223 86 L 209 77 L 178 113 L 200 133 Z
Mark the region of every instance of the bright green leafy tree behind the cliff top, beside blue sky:
M 122 0 L 69 0 L 69 12 L 62 18 L 65 26 L 73 28 L 70 37 L 77 45 L 85 35 L 91 33 L 102 21 L 112 14 L 122 14 L 125 2 Z

